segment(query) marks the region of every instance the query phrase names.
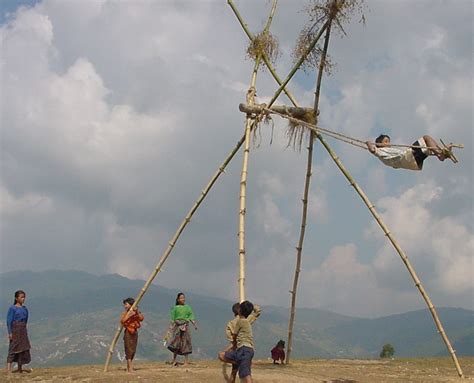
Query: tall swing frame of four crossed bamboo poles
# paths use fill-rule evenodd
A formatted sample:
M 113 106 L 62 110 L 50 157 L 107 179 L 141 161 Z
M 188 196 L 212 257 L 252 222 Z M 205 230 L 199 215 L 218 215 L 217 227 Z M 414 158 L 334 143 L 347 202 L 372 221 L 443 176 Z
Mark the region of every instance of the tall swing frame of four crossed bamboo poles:
M 334 0 L 336 1 L 336 0 Z M 227 1 L 231 9 L 233 10 L 237 20 L 239 21 L 240 25 L 242 26 L 244 32 L 247 34 L 248 38 L 251 41 L 255 40 L 255 36 L 249 31 L 247 24 L 243 21 L 242 17 L 240 16 L 237 8 L 235 7 L 234 3 L 232 0 Z M 269 32 L 270 24 L 273 19 L 273 15 L 275 13 L 276 9 L 276 3 L 277 0 L 273 0 L 272 4 L 272 9 L 270 12 L 270 15 L 267 19 L 267 23 L 264 29 L 264 33 Z M 448 349 L 448 352 L 450 353 L 454 365 L 456 367 L 457 373 L 459 377 L 463 378 L 463 373 L 461 370 L 461 366 L 459 365 L 459 362 L 456 357 L 456 353 L 454 349 L 451 346 L 451 343 L 447 337 L 447 334 L 441 324 L 441 321 L 439 320 L 438 314 L 436 312 L 436 309 L 429 298 L 427 292 L 423 288 L 420 279 L 418 278 L 413 266 L 410 264 L 408 257 L 402 250 L 402 248 L 399 246 L 398 242 L 396 241 L 394 235 L 390 232 L 388 227 L 385 225 L 383 222 L 382 218 L 378 214 L 378 212 L 375 209 L 375 206 L 370 202 L 368 199 L 367 195 L 364 193 L 364 191 L 361 189 L 361 187 L 355 182 L 355 180 L 352 178 L 350 173 L 347 171 L 347 169 L 344 167 L 342 164 L 341 160 L 339 157 L 335 154 L 333 149 L 329 146 L 329 144 L 324 140 L 324 138 L 321 135 L 320 128 L 317 128 L 317 118 L 318 118 L 318 105 L 319 105 L 319 95 L 320 95 L 320 88 L 321 88 L 321 81 L 322 81 L 322 75 L 323 75 L 323 69 L 324 69 L 324 63 L 325 63 L 325 57 L 327 54 L 328 50 L 328 44 L 329 44 L 329 37 L 330 37 L 330 32 L 331 32 L 331 22 L 332 19 L 328 18 L 328 20 L 324 23 L 324 25 L 321 27 L 319 33 L 317 36 L 314 38 L 314 40 L 311 42 L 309 45 L 309 48 L 301 55 L 301 58 L 298 60 L 298 62 L 295 64 L 293 69 L 290 71 L 288 76 L 285 78 L 285 80 L 281 80 L 279 76 L 277 75 L 269 57 L 266 55 L 265 52 L 262 52 L 256 57 L 255 60 L 255 65 L 254 69 L 252 72 L 252 77 L 251 77 L 251 82 L 250 82 L 250 87 L 247 93 L 247 105 L 249 107 L 253 107 L 255 104 L 255 92 L 256 92 L 256 76 L 258 72 L 258 68 L 260 66 L 260 62 L 263 60 L 265 63 L 266 67 L 268 68 L 269 72 L 272 74 L 273 78 L 279 85 L 279 88 L 275 92 L 274 96 L 272 97 L 271 101 L 269 104 L 264 108 L 266 111 L 272 111 L 272 105 L 273 103 L 277 100 L 279 95 L 284 92 L 286 96 L 289 98 L 291 103 L 294 105 L 296 109 L 308 109 L 308 108 L 300 108 L 298 106 L 298 103 L 296 102 L 296 99 L 294 96 L 289 92 L 287 89 L 287 85 L 291 78 L 294 76 L 294 74 L 297 72 L 297 70 L 301 67 L 302 63 L 306 59 L 306 56 L 311 52 L 311 50 L 316 46 L 316 43 L 318 42 L 318 39 L 321 37 L 321 35 L 325 32 L 325 40 L 324 40 L 324 49 L 323 49 L 323 54 L 321 56 L 321 62 L 319 65 L 319 70 L 318 70 L 318 76 L 317 76 L 317 82 L 316 82 L 316 92 L 315 92 L 315 100 L 314 100 L 314 126 L 313 124 L 308 123 L 307 121 L 300 120 L 291 116 L 286 116 L 285 118 L 289 119 L 295 119 L 296 121 L 299 121 L 301 125 L 305 125 L 308 130 L 310 131 L 309 135 L 309 146 L 308 146 L 308 160 L 307 160 L 307 169 L 306 169 L 306 178 L 305 178 L 305 186 L 304 186 L 304 194 L 303 194 L 303 211 L 302 211 L 302 220 L 301 220 L 301 230 L 300 230 L 300 237 L 299 237 L 299 242 L 297 246 L 297 256 L 296 256 L 296 266 L 295 266 L 295 277 L 294 277 L 294 282 L 293 282 L 293 290 L 290 291 L 292 295 L 292 304 L 291 304 L 291 310 L 290 310 L 290 320 L 289 320 L 289 327 L 288 327 L 288 350 L 287 350 L 287 363 L 290 361 L 290 355 L 292 351 L 292 332 L 293 332 L 293 322 L 295 318 L 295 307 L 296 307 L 296 291 L 297 291 L 297 284 L 298 284 L 298 278 L 299 278 L 299 273 L 301 269 L 301 256 L 302 256 L 302 249 L 303 249 L 303 240 L 304 240 L 304 233 L 305 233 L 305 228 L 306 228 L 306 213 L 307 213 L 307 202 L 308 202 L 308 194 L 309 194 L 309 185 L 310 185 L 310 179 L 311 179 L 311 166 L 312 166 L 312 152 L 313 152 L 313 143 L 314 143 L 314 138 L 316 137 L 323 147 L 326 149 L 332 160 L 335 162 L 337 167 L 341 170 L 343 175 L 346 177 L 346 179 L 349 181 L 349 184 L 354 188 L 354 190 L 359 194 L 359 196 L 362 198 L 363 202 L 365 205 L 368 207 L 370 213 L 372 216 L 375 218 L 376 222 L 379 224 L 381 227 L 382 231 L 390 241 L 390 243 L 393 245 L 399 256 L 401 257 L 403 263 L 405 264 L 408 272 L 410 273 L 415 286 L 418 288 L 420 291 L 423 299 L 425 300 L 430 313 L 433 317 L 433 320 L 435 322 L 435 325 L 438 329 L 438 332 L 440 333 L 444 343 L 446 344 L 446 347 Z M 273 109 L 276 114 L 277 108 L 274 107 Z M 244 145 L 244 154 L 243 154 L 243 163 L 242 163 L 242 171 L 241 171 L 241 181 L 240 181 L 240 210 L 239 210 L 239 231 L 238 231 L 238 236 L 239 236 L 239 299 L 240 301 L 245 300 L 245 212 L 246 212 L 246 186 L 247 186 L 247 174 L 248 174 L 248 163 L 249 163 L 249 151 L 250 151 L 250 133 L 251 131 L 257 126 L 259 123 L 260 119 L 263 116 L 263 111 L 260 112 L 258 115 L 255 113 L 248 113 L 245 121 L 245 133 L 244 135 L 240 138 L 240 140 L 237 142 L 236 146 L 230 151 L 228 156 L 225 158 L 225 160 L 222 162 L 222 164 L 218 167 L 217 171 L 214 173 L 214 175 L 211 177 L 210 181 L 207 183 L 206 187 L 202 190 L 200 195 L 198 196 L 197 200 L 195 201 L 194 205 L 191 207 L 191 209 L 188 211 L 186 214 L 185 218 L 183 219 L 181 225 L 178 227 L 177 231 L 175 232 L 174 236 L 171 238 L 171 240 L 168 243 L 168 246 L 162 253 L 157 265 L 155 266 L 153 272 L 151 273 L 150 277 L 147 279 L 145 282 L 143 288 L 140 290 L 138 293 L 137 297 L 135 298 L 135 303 L 132 305 L 131 309 L 133 310 L 137 305 L 140 303 L 141 299 L 147 292 L 148 288 L 150 287 L 151 283 L 157 276 L 157 274 L 162 271 L 162 266 L 170 256 L 172 250 L 174 249 L 178 239 L 180 238 L 181 234 L 183 233 L 184 229 L 186 226 L 191 222 L 191 218 L 193 217 L 194 213 L 198 210 L 218 178 L 221 176 L 222 173 L 225 172 L 226 167 L 228 164 L 231 162 L 231 160 L 234 158 L 235 154 L 239 151 L 239 149 Z M 299 117 L 299 116 L 298 116 Z M 107 357 L 104 365 L 104 372 L 108 371 L 108 367 L 110 364 L 110 361 L 113 356 L 113 352 L 116 346 L 116 343 L 118 341 L 118 338 L 120 336 L 120 333 L 123 329 L 122 325 L 119 325 L 115 335 L 111 341 L 110 347 L 107 352 Z

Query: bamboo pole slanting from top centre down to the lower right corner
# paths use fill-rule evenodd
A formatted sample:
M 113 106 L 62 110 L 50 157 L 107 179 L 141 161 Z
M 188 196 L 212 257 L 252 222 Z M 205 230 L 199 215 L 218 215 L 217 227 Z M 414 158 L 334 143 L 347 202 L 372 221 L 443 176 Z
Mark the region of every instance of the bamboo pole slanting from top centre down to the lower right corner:
M 237 16 L 244 32 L 247 34 L 248 38 L 250 40 L 253 40 L 254 37 L 253 35 L 250 33 L 250 31 L 248 30 L 247 28 L 247 25 L 243 22 L 242 18 L 240 17 L 238 11 L 235 9 L 235 6 L 233 6 L 232 1 L 229 0 L 228 1 L 229 4 L 231 5 L 235 15 Z M 263 59 L 264 59 L 264 62 L 265 62 L 265 65 L 267 65 L 268 67 L 268 70 L 270 71 L 270 73 L 272 74 L 273 78 L 275 79 L 275 81 L 281 86 L 283 84 L 283 81 L 280 79 L 280 77 L 278 76 L 278 74 L 276 73 L 275 71 L 275 68 L 273 67 L 273 65 L 271 64 L 271 62 L 268 60 L 268 57 L 266 57 L 265 55 L 263 56 Z M 280 87 L 281 88 L 281 87 Z M 290 101 L 292 102 L 292 104 L 295 106 L 295 107 L 298 107 L 298 103 L 295 99 L 295 97 L 293 96 L 293 94 L 286 88 L 284 87 L 283 88 L 283 91 L 285 92 L 285 94 L 288 96 L 288 98 L 290 99 Z M 317 111 L 316 111 L 317 113 Z M 344 176 L 348 179 L 349 183 L 354 187 L 354 189 L 356 190 L 356 192 L 359 194 L 359 196 L 362 198 L 362 200 L 364 201 L 364 203 L 366 204 L 366 206 L 369 208 L 370 212 L 372 213 L 372 215 L 374 216 L 374 218 L 377 220 L 377 222 L 379 223 L 379 226 L 382 228 L 382 230 L 384 231 L 385 235 L 387 236 L 387 238 L 390 240 L 391 244 L 395 247 L 395 249 L 397 250 L 397 253 L 400 255 L 400 257 L 402 258 L 402 261 L 403 263 L 405 264 L 406 268 L 408 269 L 408 272 L 410 273 L 412 279 L 415 281 L 415 286 L 418 288 L 418 290 L 420 291 L 423 299 L 425 300 L 427 306 L 428 306 L 428 309 L 430 310 L 430 313 L 431 313 L 431 316 L 433 317 L 433 320 L 435 322 L 435 325 L 438 329 L 438 332 L 441 334 L 441 337 L 448 349 L 448 352 L 450 353 L 451 355 L 451 358 L 453 359 L 453 362 L 454 362 L 454 365 L 456 367 L 456 371 L 459 375 L 459 377 L 463 378 L 463 372 L 461 370 L 461 366 L 459 364 L 459 361 L 457 359 L 457 356 L 456 356 L 456 353 L 454 351 L 454 349 L 452 348 L 451 346 L 451 343 L 448 339 L 448 336 L 446 334 L 446 331 L 444 330 L 443 328 L 443 325 L 441 324 L 441 321 L 438 317 L 438 314 L 436 312 L 436 309 L 434 307 L 434 305 L 432 304 L 431 302 L 431 299 L 429 298 L 428 296 L 428 293 L 424 290 L 423 286 L 421 285 L 421 282 L 418 278 L 418 276 L 416 275 L 415 273 L 415 270 L 413 269 L 413 267 L 411 266 L 410 262 L 408 261 L 408 257 L 405 255 L 405 253 L 403 252 L 403 250 L 400 248 L 400 246 L 398 245 L 398 243 L 396 242 L 395 238 L 393 237 L 393 235 L 390 233 L 390 231 L 388 230 L 387 226 L 384 224 L 384 222 L 382 221 L 382 219 L 380 218 L 380 216 L 377 214 L 376 210 L 375 210 L 375 207 L 374 205 L 370 202 L 370 200 L 367 198 L 367 196 L 365 195 L 365 193 L 363 192 L 363 190 L 358 186 L 358 184 L 354 181 L 354 179 L 352 178 L 352 176 L 350 175 L 350 173 L 346 170 L 346 168 L 344 167 L 344 165 L 342 164 L 341 160 L 339 159 L 339 157 L 335 154 L 335 152 L 332 150 L 332 148 L 329 146 L 329 144 L 324 140 L 324 138 L 319 134 L 317 133 L 316 130 L 314 130 L 314 133 L 316 134 L 318 140 L 323 144 L 324 148 L 327 150 L 327 152 L 329 153 L 329 155 L 331 156 L 331 158 L 333 159 L 333 161 L 336 163 L 336 165 L 338 166 L 338 168 L 341 170 L 341 172 L 344 174 Z M 378 219 L 376 218 L 376 216 L 378 217 Z M 396 245 L 395 245 L 396 244 Z

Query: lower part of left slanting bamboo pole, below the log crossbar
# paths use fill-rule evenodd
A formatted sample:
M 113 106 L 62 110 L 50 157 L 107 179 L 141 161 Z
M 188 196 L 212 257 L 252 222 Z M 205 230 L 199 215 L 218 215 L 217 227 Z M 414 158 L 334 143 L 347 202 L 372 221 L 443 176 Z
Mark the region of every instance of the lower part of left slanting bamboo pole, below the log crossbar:
M 237 145 L 234 147 L 234 149 L 232 149 L 232 151 L 229 153 L 227 158 L 224 160 L 224 162 L 221 164 L 221 166 L 219 166 L 217 171 L 214 173 L 214 175 L 212 176 L 212 178 L 209 181 L 209 183 L 207 184 L 207 186 L 202 190 L 202 192 L 199 195 L 198 199 L 196 200 L 194 205 L 191 207 L 191 209 L 189 210 L 189 212 L 186 215 L 186 217 L 184 218 L 184 220 L 181 222 L 181 225 L 178 227 L 178 230 L 176 230 L 176 233 L 174 234 L 172 239 L 168 242 L 168 246 L 165 249 L 165 251 L 163 252 L 163 254 L 161 255 L 161 258 L 158 261 L 158 264 L 156 265 L 155 269 L 151 273 L 148 280 L 145 282 L 145 284 L 142 287 L 142 289 L 140 290 L 138 296 L 135 298 L 135 303 L 132 305 L 131 310 L 133 310 L 140 303 L 141 299 L 145 295 L 146 291 L 150 287 L 150 285 L 153 282 L 153 280 L 155 279 L 156 275 L 161 271 L 161 268 L 162 268 L 163 264 L 165 263 L 165 261 L 167 260 L 168 256 L 171 254 L 171 251 L 174 249 L 174 246 L 176 245 L 176 242 L 178 241 L 178 238 L 180 237 L 181 233 L 184 231 L 185 227 L 191 221 L 191 218 L 192 218 L 193 214 L 199 208 L 199 206 L 201 205 L 204 198 L 206 198 L 207 194 L 209 193 L 211 188 L 214 186 L 214 184 L 216 183 L 219 176 L 222 173 L 224 173 L 225 168 L 230 163 L 230 161 L 235 156 L 235 154 L 239 151 L 240 147 L 244 143 L 244 140 L 245 140 L 245 135 L 242 136 L 242 138 L 237 142 Z M 107 353 L 107 358 L 106 358 L 106 361 L 105 361 L 105 365 L 104 365 L 104 372 L 107 372 L 107 370 L 109 368 L 110 360 L 112 359 L 112 355 L 113 355 L 113 352 L 114 352 L 114 349 L 115 349 L 115 345 L 117 344 L 117 340 L 120 336 L 120 333 L 122 332 L 122 327 L 123 327 L 122 325 L 118 326 L 117 331 L 115 332 L 115 335 L 112 339 L 112 342 L 110 344 L 110 347 L 109 347 L 109 350 L 108 350 L 108 353 Z

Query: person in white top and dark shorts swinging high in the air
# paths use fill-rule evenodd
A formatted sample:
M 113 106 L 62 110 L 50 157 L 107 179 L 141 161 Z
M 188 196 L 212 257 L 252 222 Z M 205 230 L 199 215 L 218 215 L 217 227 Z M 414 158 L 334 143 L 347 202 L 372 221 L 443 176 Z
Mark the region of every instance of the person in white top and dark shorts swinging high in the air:
M 366 145 L 370 153 L 394 169 L 421 170 L 423 161 L 428 156 L 436 156 L 440 161 L 446 159 L 445 153 L 436 140 L 427 135 L 415 141 L 411 148 L 391 147 L 390 137 L 386 134 L 378 136 L 375 139 L 375 144 L 367 141 Z

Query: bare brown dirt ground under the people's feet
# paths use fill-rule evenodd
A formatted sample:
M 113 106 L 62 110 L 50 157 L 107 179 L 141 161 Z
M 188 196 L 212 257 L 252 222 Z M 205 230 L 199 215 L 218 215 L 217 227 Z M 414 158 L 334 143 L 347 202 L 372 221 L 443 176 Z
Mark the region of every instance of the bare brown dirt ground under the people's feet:
M 474 357 L 460 358 L 466 379 L 474 381 Z M 193 361 L 189 366 L 172 367 L 163 362 L 136 362 L 136 371 L 125 372 L 125 365 L 114 364 L 109 372 L 103 366 L 34 368 L 29 373 L 0 373 L 4 382 L 225 382 L 218 361 Z M 227 373 L 230 368 L 227 367 Z M 255 383 L 283 382 L 458 382 L 450 358 L 416 358 L 381 360 L 312 359 L 295 360 L 291 365 L 273 365 L 256 360 L 252 365 Z M 238 381 L 238 379 L 237 379 Z

